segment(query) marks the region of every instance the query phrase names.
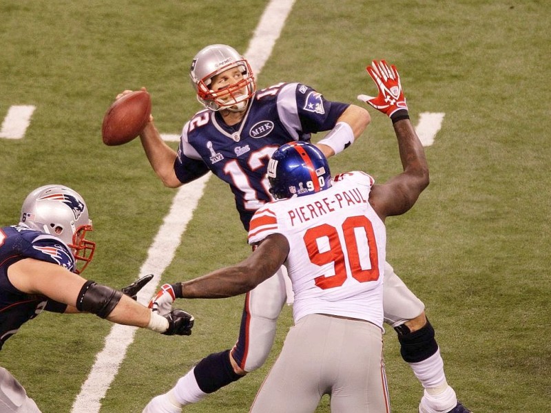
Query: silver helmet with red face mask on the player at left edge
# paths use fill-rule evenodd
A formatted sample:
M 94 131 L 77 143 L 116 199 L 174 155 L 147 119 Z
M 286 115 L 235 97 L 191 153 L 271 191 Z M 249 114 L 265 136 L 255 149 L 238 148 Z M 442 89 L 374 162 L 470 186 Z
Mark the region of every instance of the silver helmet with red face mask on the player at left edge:
M 21 207 L 21 224 L 61 238 L 72 248 L 77 274 L 92 260 L 96 244 L 85 240 L 87 231 L 92 231 L 92 220 L 83 198 L 76 191 L 63 185 L 34 189 Z

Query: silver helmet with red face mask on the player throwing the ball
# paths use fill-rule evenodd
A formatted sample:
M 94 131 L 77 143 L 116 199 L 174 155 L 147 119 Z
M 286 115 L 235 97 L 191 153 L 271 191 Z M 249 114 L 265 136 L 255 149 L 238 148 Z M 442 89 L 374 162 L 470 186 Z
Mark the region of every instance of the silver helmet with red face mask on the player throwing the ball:
M 239 68 L 242 80 L 216 92 L 212 90 L 212 78 L 233 67 Z M 210 45 L 198 52 L 191 63 L 189 77 L 197 92 L 197 100 L 214 111 L 228 109 L 231 112 L 242 112 L 256 92 L 251 65 L 228 45 Z

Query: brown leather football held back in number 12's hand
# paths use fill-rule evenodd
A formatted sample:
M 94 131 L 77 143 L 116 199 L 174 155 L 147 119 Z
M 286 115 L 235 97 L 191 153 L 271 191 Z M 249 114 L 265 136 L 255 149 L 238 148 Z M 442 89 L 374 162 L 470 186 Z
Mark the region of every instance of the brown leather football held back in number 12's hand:
M 103 116 L 101 138 L 105 145 L 123 145 L 136 138 L 151 115 L 151 96 L 137 90 L 118 98 Z

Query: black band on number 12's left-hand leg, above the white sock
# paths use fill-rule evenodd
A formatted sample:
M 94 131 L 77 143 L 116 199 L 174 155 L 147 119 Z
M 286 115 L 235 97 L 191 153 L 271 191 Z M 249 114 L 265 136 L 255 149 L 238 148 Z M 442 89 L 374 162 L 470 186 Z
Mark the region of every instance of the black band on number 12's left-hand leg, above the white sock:
M 231 367 L 229 350 L 210 354 L 199 361 L 195 366 L 194 374 L 199 388 L 205 393 L 214 393 L 242 377 Z

